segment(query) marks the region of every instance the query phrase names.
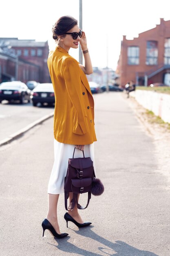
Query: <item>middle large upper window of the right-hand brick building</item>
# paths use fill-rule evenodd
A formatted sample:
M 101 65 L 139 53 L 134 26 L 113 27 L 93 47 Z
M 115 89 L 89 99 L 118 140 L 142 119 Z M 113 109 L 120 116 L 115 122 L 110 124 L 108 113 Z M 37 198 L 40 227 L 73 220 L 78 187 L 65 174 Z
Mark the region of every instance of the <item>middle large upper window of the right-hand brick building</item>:
M 147 41 L 146 48 L 146 65 L 158 64 L 158 42 Z

